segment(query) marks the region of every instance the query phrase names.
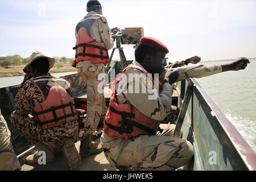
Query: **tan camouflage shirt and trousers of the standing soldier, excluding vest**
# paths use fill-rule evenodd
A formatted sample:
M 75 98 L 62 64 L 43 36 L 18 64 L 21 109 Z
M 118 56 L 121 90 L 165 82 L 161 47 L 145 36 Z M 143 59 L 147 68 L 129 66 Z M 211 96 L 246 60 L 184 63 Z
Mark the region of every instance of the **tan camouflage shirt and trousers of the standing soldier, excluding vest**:
M 94 11 L 88 13 L 97 14 Z M 114 46 L 113 39 L 110 37 L 110 29 L 108 22 L 104 17 L 101 17 L 93 24 L 91 36 L 98 43 L 104 43 L 106 49 L 111 49 Z M 106 114 L 106 103 L 104 94 L 97 92 L 97 86 L 101 81 L 98 81 L 97 76 L 100 73 L 105 73 L 104 64 L 93 64 L 90 60 L 80 61 L 76 65 L 77 73 L 84 79 L 87 87 L 87 114 L 86 123 L 90 124 L 93 130 L 97 129 L 101 116 Z

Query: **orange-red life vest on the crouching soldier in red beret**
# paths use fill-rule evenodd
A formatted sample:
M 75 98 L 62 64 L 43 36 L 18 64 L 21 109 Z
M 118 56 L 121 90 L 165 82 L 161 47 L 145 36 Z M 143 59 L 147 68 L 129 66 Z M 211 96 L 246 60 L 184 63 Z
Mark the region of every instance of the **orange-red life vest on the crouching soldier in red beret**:
M 139 72 L 147 75 L 147 72 L 142 68 L 133 64 L 126 67 L 123 73 L 128 68 L 135 68 Z M 120 80 L 121 77 L 118 77 L 114 81 L 115 88 Z M 113 93 L 105 116 L 104 131 L 109 137 L 120 137 L 127 140 L 131 137 L 138 137 L 139 135 L 155 135 L 161 122 L 147 117 L 131 104 L 118 104 L 116 93 Z

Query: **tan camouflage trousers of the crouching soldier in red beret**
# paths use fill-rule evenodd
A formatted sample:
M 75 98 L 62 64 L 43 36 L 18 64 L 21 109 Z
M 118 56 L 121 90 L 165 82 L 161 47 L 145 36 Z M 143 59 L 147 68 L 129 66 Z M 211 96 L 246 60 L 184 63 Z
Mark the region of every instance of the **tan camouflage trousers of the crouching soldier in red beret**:
M 193 156 L 192 144 L 187 140 L 171 137 L 175 125 L 162 124 L 160 127 L 163 129 L 162 133 L 122 140 L 107 150 L 105 147 L 108 144 L 102 143 L 106 158 L 112 166 L 130 166 L 138 170 L 167 171 L 187 164 Z M 181 135 L 182 133 L 180 137 Z

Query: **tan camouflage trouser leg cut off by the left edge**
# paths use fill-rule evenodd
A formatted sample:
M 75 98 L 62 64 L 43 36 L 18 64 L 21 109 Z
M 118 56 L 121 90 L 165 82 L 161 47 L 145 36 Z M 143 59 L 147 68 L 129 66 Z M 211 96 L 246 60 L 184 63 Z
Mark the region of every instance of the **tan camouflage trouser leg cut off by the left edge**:
M 0 171 L 19 169 L 20 164 L 11 144 L 11 132 L 0 114 Z

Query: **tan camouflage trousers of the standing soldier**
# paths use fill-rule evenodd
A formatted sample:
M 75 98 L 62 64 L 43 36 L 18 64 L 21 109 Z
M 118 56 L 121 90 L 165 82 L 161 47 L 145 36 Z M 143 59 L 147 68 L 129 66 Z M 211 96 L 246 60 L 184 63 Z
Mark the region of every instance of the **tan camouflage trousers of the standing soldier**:
M 106 102 L 103 93 L 98 92 L 98 80 L 100 73 L 105 73 L 105 67 L 102 64 L 88 64 L 77 68 L 77 73 L 84 79 L 87 87 L 87 111 L 85 127 L 89 126 L 95 131 L 103 115 L 106 114 Z M 102 85 L 104 89 L 104 85 Z

